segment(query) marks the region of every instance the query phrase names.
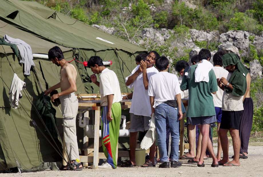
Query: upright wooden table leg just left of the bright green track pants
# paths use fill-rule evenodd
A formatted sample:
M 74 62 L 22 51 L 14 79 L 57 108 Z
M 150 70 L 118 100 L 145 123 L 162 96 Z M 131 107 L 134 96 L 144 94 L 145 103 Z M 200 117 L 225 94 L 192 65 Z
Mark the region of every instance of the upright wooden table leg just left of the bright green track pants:
M 99 165 L 99 121 L 100 107 L 95 107 L 95 126 L 94 126 L 94 156 L 93 169 L 97 169 Z

